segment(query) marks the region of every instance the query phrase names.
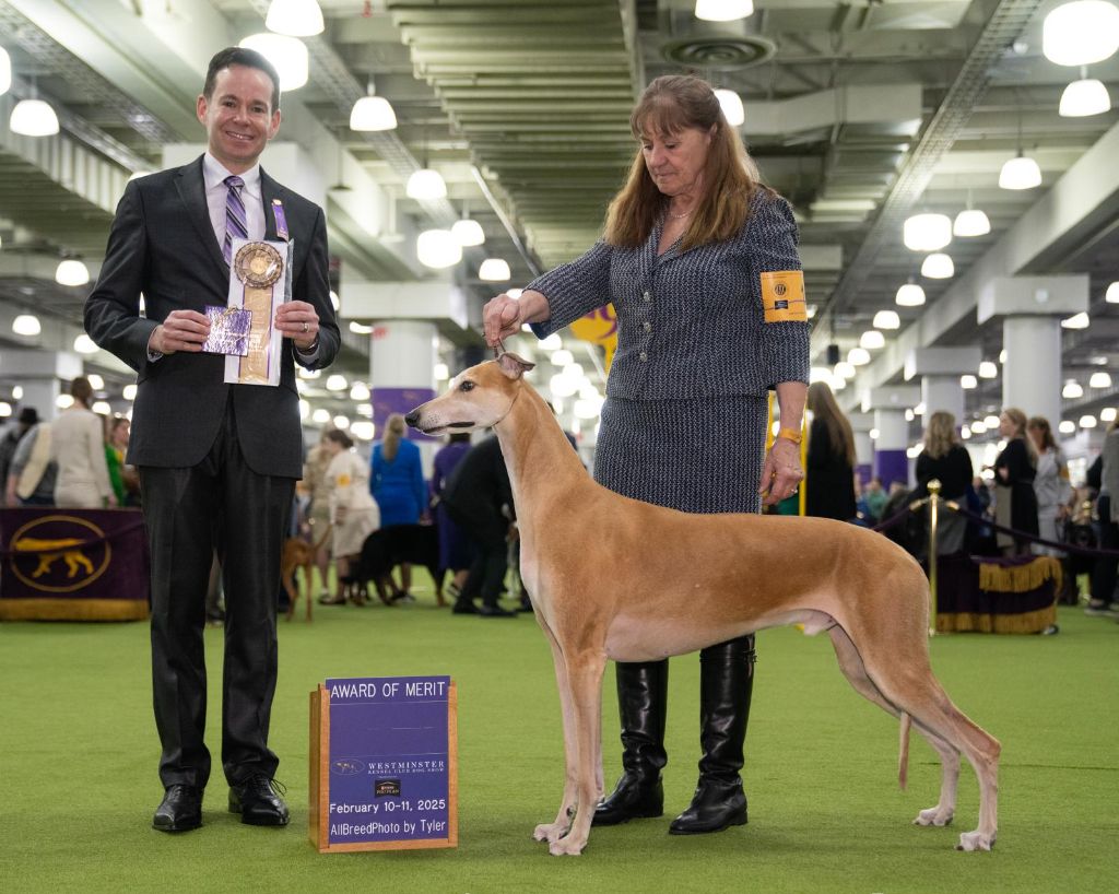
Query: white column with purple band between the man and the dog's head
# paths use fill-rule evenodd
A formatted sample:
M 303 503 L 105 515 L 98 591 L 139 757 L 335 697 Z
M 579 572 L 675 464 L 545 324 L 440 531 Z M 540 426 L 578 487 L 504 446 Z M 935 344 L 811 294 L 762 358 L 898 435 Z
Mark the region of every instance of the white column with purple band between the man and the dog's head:
M 380 320 L 373 323 L 369 338 L 369 390 L 379 440 L 392 413 L 407 413 L 435 396 L 439 331 L 423 320 Z M 441 440 L 416 431 L 407 436 L 420 446 L 430 476 Z

